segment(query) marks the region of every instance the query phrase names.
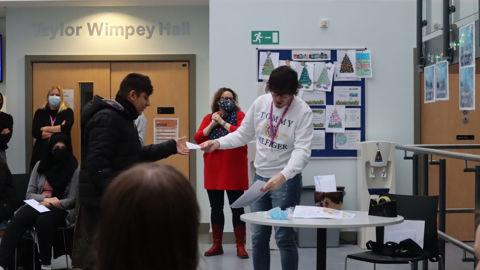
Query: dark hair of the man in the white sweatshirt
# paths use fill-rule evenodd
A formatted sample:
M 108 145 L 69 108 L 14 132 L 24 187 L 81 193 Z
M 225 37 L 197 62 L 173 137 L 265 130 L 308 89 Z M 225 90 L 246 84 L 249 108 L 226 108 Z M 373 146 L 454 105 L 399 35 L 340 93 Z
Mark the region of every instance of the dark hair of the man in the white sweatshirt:
M 300 83 L 298 74 L 288 66 L 280 66 L 272 71 L 267 82 L 270 91 L 279 95 L 290 94 L 297 95 L 299 93 Z

